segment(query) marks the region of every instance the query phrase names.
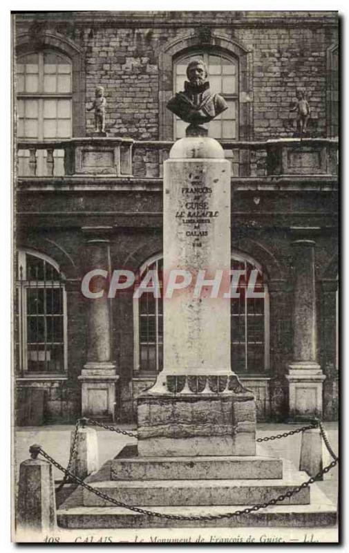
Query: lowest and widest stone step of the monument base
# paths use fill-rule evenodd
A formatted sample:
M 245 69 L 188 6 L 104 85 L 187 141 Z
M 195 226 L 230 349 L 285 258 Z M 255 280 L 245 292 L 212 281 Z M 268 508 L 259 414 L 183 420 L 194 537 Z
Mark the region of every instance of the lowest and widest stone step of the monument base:
M 167 518 L 135 513 L 121 507 L 68 507 L 57 511 L 57 522 L 64 528 L 164 528 L 164 527 L 326 527 L 337 522 L 336 507 L 312 484 L 310 505 L 274 505 L 260 511 L 216 521 L 171 521 Z M 144 507 L 149 509 L 149 507 Z M 151 507 L 151 511 L 174 515 L 217 515 L 244 509 L 245 505 L 206 507 Z

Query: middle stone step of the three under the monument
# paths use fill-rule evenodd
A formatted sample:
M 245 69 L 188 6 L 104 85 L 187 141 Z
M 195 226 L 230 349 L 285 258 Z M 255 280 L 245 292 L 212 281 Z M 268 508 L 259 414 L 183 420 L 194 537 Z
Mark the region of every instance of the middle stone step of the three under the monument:
M 92 487 L 128 505 L 255 505 L 289 490 L 307 479 L 294 473 L 282 480 L 105 480 L 89 482 Z M 283 504 L 309 503 L 309 489 L 285 498 Z M 83 490 L 85 507 L 109 506 L 110 503 Z

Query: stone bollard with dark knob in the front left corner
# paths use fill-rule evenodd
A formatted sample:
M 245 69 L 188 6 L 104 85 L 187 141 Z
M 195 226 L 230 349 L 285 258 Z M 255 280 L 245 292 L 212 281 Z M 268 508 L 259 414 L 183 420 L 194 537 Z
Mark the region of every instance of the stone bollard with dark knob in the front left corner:
M 53 467 L 37 459 L 41 446 L 30 446 L 30 459 L 21 462 L 17 500 L 19 531 L 53 531 L 57 527 Z

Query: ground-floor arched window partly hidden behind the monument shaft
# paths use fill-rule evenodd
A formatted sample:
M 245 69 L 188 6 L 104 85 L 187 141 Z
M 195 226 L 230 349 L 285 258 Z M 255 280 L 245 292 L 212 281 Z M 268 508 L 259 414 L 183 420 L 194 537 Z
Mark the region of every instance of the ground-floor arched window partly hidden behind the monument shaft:
M 232 253 L 232 269 L 244 270 L 238 286 L 238 298 L 231 303 L 231 359 L 232 369 L 239 374 L 260 375 L 270 368 L 269 348 L 269 294 L 263 281 L 261 265 L 248 256 Z M 162 296 L 162 255 L 149 259 L 140 268 L 140 277 L 149 270 L 158 272 L 160 296 Z M 252 270 L 258 270 L 254 292 L 264 292 L 264 297 L 247 297 L 246 288 Z M 134 299 L 135 323 L 135 371 L 142 374 L 158 373 L 162 369 L 163 323 L 162 298 L 153 292 Z

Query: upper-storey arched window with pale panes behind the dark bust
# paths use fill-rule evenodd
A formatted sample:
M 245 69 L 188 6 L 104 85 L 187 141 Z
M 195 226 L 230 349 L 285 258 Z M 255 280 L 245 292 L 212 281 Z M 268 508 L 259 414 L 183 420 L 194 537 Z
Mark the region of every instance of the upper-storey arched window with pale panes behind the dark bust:
M 225 98 L 228 109 L 209 123 L 209 136 L 218 140 L 238 139 L 238 60 L 221 53 L 194 50 L 176 59 L 174 64 L 174 92 L 180 92 L 187 80 L 186 70 L 191 59 L 202 59 L 208 69 L 210 90 Z M 185 136 L 188 123 L 175 117 L 174 139 Z

